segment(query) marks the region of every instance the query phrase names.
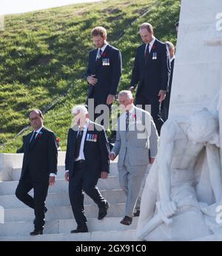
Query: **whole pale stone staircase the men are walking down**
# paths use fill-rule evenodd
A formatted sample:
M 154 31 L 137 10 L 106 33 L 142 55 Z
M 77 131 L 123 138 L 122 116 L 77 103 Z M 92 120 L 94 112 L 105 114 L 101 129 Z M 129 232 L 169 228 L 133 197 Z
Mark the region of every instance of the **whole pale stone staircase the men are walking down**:
M 89 233 L 70 234 L 76 223 L 68 197 L 68 183 L 64 180 L 64 152 L 58 154 L 58 175 L 55 186 L 49 188 L 46 206 L 44 234 L 31 237 L 33 231 L 33 209 L 21 203 L 15 196 L 21 174 L 22 154 L 15 155 L 16 165 L 8 168 L 10 181 L 0 182 L 0 241 L 4 240 L 137 240 L 135 229 L 138 217 L 134 217 L 131 226 L 120 224 L 124 217 L 125 195 L 118 183 L 117 163 L 110 165 L 110 176 L 98 181 L 101 194 L 110 203 L 107 217 L 98 220 L 98 206 L 85 194 L 84 208 Z M 10 154 L 13 161 L 13 154 Z M 0 159 L 1 160 L 1 159 Z M 10 162 L 10 161 L 9 161 Z M 1 164 L 2 165 L 2 164 Z M 16 167 L 15 167 L 16 166 Z M 20 166 L 20 167 L 19 167 Z M 0 166 L 0 171 L 4 171 Z M 30 191 L 30 194 L 33 192 Z

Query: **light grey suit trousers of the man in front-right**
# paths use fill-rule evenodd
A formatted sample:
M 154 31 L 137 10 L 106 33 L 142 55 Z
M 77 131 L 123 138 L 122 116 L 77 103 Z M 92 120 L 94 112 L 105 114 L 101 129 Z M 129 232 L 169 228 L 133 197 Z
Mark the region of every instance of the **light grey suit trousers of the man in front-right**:
M 124 165 L 121 167 L 118 166 L 119 183 L 127 196 L 125 215 L 128 217 L 133 216 L 135 203 L 138 200 L 138 195 L 140 193 L 146 171 L 147 165 L 129 165 L 127 156 L 125 157 Z

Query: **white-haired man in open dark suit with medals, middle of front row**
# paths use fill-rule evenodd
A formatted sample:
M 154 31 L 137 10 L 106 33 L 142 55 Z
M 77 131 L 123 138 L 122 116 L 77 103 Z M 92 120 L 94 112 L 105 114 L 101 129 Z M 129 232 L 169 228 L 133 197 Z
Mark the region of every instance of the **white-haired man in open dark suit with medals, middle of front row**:
M 68 132 L 65 179 L 69 181 L 70 203 L 77 223 L 71 233 L 79 233 L 88 232 L 83 191 L 98 205 L 98 220 L 107 215 L 109 203 L 96 185 L 98 178 L 108 177 L 110 148 L 104 127 L 90 121 L 87 108 L 79 105 L 72 113 L 76 124 Z

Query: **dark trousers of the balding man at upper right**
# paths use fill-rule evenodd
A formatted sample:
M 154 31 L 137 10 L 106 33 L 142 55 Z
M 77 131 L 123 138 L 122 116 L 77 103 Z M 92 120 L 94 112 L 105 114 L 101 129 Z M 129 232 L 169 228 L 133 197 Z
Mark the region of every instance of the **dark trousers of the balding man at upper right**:
M 138 95 L 135 97 L 135 105 L 137 107 L 149 111 L 149 113 L 152 115 L 152 119 L 155 122 L 155 127 L 157 128 L 158 134 L 161 134 L 161 127 L 164 124 L 164 121 L 160 119 L 159 116 L 159 97 L 158 96 L 145 96 L 144 93 L 138 93 Z M 145 108 L 147 105 L 149 105 L 149 108 Z M 150 109 L 151 108 L 151 109 Z M 150 112 L 151 111 L 151 112 Z

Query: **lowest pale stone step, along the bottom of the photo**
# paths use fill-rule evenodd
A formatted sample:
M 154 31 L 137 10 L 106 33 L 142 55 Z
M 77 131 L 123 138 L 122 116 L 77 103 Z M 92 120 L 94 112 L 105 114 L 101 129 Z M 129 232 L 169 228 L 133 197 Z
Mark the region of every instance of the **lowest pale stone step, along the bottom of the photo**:
M 135 230 L 88 232 L 78 234 L 43 234 L 35 237 L 0 237 L 0 241 L 138 241 Z M 75 247 L 73 247 L 75 249 Z M 73 251 L 74 252 L 74 251 Z

